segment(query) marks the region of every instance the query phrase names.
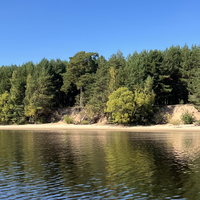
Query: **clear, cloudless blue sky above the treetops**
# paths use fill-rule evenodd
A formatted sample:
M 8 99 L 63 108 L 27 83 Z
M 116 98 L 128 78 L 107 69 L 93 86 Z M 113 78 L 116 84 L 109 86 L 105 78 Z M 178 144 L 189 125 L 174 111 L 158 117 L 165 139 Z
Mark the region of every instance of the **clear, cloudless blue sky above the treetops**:
M 198 0 L 0 0 L 0 66 L 200 44 Z

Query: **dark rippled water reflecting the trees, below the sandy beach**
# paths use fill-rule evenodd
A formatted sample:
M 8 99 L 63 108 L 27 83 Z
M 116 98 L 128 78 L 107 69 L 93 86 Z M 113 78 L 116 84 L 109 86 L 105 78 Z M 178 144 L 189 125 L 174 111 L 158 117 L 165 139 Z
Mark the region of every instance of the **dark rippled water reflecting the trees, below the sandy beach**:
M 1 199 L 200 199 L 200 133 L 0 131 Z

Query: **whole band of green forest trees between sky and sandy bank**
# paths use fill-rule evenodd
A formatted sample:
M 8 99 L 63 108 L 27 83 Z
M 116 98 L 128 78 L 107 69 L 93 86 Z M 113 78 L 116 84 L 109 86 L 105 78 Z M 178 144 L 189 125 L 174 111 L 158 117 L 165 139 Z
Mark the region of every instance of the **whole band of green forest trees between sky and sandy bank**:
M 81 51 L 69 61 L 0 67 L 0 124 L 45 123 L 53 110 L 79 107 L 116 123 L 154 123 L 160 105 L 200 103 L 200 46 L 118 51 L 108 60 Z

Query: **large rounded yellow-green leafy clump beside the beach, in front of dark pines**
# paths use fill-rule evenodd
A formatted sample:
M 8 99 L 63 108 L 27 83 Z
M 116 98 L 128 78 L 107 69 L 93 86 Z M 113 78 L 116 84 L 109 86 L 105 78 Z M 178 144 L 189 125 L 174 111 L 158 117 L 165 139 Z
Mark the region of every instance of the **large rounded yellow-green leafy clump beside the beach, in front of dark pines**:
M 109 96 L 105 112 L 112 113 L 115 123 L 148 123 L 155 97 L 152 84 L 152 78 L 148 77 L 144 88 L 138 88 L 134 93 L 126 87 L 118 88 Z

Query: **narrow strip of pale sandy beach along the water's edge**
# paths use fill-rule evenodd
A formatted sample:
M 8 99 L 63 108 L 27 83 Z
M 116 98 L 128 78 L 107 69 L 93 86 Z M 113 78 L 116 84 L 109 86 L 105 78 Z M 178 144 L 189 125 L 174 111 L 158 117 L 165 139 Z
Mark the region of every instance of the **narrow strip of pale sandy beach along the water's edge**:
M 150 125 L 150 126 L 121 126 L 121 125 L 74 125 L 65 123 L 27 124 L 27 125 L 0 125 L 0 130 L 104 130 L 104 131 L 128 131 L 128 132 L 200 132 L 200 126 L 190 125 Z

